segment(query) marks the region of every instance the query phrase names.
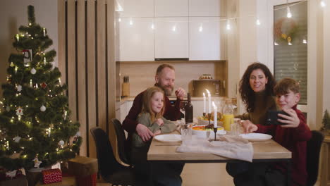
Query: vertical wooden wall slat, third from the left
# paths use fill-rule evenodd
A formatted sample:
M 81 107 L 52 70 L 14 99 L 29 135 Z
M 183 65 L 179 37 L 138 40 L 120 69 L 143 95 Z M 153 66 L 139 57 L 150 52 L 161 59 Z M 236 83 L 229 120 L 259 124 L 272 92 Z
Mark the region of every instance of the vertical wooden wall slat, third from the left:
M 86 57 L 85 57 L 85 0 L 77 1 L 77 69 L 78 69 L 78 120 L 80 134 L 87 139 L 86 117 Z M 84 140 L 80 147 L 80 155 L 87 156 L 87 141 Z

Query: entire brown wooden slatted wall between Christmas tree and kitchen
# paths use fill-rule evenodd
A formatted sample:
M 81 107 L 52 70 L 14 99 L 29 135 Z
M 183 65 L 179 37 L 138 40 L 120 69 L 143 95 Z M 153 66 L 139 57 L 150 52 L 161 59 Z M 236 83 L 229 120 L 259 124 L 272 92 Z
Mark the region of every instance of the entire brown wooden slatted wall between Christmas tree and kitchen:
M 59 68 L 68 84 L 71 119 L 80 122 L 80 155 L 96 157 L 90 128 L 109 132 L 116 113 L 114 0 L 58 0 L 58 5 Z

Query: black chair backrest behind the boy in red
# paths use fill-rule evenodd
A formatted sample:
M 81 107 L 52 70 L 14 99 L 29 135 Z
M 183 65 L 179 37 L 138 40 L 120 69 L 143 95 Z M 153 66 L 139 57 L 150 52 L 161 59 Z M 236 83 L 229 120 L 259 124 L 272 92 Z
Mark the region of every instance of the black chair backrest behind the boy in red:
M 312 138 L 307 141 L 306 169 L 308 173 L 307 186 L 314 185 L 319 171 L 319 151 L 321 150 L 324 135 L 312 130 Z

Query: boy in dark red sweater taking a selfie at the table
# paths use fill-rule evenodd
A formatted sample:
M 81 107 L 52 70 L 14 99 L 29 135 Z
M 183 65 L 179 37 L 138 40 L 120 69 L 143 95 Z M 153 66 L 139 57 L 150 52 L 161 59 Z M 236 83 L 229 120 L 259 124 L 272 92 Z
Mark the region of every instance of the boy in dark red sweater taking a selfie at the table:
M 291 78 L 280 80 L 274 87 L 276 104 L 288 116 L 279 113 L 279 122 L 286 125 L 255 125 L 243 122 L 245 132 L 267 133 L 274 141 L 292 152 L 291 185 L 306 185 L 306 142 L 312 137 L 305 116 L 297 109 L 299 83 Z M 286 163 L 252 163 L 248 171 L 234 178 L 235 185 L 286 185 Z

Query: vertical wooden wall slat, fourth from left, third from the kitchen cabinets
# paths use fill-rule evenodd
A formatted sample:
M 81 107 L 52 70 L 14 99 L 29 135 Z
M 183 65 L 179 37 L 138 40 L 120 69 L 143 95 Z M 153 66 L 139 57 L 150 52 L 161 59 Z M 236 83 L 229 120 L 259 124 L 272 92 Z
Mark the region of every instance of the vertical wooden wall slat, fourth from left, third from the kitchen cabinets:
M 87 0 L 87 116 L 88 154 L 96 157 L 96 147 L 90 129 L 97 126 L 96 65 L 95 65 L 95 1 Z

